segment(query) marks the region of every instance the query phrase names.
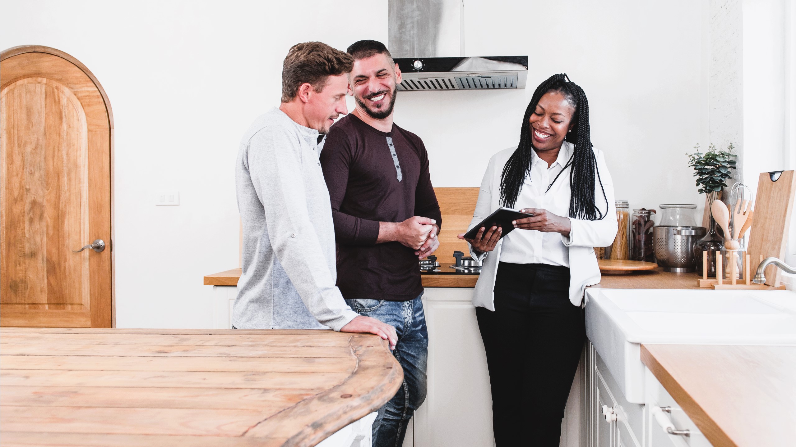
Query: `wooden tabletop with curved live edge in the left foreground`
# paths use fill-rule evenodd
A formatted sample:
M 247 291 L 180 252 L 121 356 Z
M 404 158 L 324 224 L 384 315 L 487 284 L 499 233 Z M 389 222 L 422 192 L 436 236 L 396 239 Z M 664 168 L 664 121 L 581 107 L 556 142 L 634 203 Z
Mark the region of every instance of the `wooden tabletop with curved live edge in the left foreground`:
M 403 380 L 378 336 L 2 328 L 3 445 L 309 446 Z

